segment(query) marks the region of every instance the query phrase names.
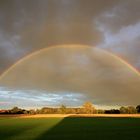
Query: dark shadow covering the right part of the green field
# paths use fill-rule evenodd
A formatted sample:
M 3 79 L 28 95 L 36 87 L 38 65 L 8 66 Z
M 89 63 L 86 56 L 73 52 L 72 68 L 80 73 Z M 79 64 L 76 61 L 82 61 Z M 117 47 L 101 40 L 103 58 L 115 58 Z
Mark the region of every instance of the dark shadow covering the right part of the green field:
M 138 118 L 64 118 L 36 140 L 138 140 Z

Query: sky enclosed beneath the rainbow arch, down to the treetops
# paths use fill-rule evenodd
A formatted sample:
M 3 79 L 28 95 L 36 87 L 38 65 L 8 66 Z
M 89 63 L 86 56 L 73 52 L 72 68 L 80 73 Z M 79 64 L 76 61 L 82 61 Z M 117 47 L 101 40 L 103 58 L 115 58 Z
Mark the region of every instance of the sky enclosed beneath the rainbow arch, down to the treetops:
M 35 52 L 0 77 L 1 106 L 137 105 L 140 74 L 119 57 L 85 45 Z

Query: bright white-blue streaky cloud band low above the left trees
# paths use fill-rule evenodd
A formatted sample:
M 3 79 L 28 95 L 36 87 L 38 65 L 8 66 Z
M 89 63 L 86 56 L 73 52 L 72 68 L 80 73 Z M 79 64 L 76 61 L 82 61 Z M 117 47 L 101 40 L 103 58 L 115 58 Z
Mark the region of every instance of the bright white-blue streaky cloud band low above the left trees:
M 48 92 L 43 90 L 14 90 L 0 87 L 0 105 L 2 108 L 11 106 L 77 106 L 84 102 L 85 96 L 80 93 Z

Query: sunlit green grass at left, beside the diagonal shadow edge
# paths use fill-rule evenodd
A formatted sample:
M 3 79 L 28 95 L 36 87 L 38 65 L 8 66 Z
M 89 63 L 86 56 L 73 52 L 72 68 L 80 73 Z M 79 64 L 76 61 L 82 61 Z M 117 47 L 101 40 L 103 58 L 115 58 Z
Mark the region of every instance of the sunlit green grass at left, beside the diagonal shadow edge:
M 62 118 L 0 119 L 0 140 L 34 140 L 61 120 Z

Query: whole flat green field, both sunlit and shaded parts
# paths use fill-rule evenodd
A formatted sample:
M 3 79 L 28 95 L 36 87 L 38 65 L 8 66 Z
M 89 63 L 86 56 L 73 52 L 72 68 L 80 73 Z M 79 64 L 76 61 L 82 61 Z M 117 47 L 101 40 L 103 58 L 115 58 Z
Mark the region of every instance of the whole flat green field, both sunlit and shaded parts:
M 139 140 L 140 118 L 0 118 L 0 140 Z

